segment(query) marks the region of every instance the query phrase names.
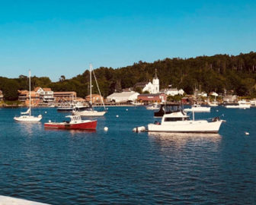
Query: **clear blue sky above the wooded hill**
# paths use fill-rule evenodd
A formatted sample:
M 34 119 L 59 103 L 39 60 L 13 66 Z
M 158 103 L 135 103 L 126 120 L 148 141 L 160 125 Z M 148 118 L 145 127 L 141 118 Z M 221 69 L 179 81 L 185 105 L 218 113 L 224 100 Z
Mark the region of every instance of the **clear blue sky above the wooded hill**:
M 1 1 L 0 76 L 255 51 L 256 1 Z

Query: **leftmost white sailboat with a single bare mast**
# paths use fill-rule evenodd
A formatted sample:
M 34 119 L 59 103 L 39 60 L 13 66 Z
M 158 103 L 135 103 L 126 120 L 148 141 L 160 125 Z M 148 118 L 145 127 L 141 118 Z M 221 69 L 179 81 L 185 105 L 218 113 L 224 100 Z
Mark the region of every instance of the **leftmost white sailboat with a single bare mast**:
M 27 112 L 21 112 L 21 116 L 14 117 L 15 121 L 26 121 L 26 122 L 34 122 L 34 121 L 40 121 L 42 119 L 42 115 L 33 116 L 31 115 L 31 74 L 29 71 L 29 109 L 27 109 Z

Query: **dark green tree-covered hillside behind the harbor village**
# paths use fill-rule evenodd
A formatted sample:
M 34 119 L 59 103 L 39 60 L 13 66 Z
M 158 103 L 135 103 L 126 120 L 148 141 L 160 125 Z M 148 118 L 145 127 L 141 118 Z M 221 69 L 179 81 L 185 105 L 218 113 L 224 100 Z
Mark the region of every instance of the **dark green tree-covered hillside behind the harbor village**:
M 207 93 L 232 90 L 238 96 L 256 96 L 256 52 L 240 55 L 213 55 L 197 58 L 165 58 L 153 63 L 139 61 L 125 68 L 98 68 L 94 70 L 101 94 L 107 96 L 117 87 L 133 87 L 137 82 L 152 80 L 157 68 L 160 88 L 168 85 L 193 93 L 195 87 Z M 26 90 L 28 80 L 25 76 L 15 79 L 0 77 L 0 90 L 5 99 L 18 99 L 17 90 Z M 78 96 L 88 95 L 89 72 L 85 71 L 72 79 L 65 76 L 59 82 L 51 82 L 49 77 L 32 77 L 31 87 L 50 87 L 53 91 L 75 91 Z M 94 93 L 98 93 L 93 82 Z

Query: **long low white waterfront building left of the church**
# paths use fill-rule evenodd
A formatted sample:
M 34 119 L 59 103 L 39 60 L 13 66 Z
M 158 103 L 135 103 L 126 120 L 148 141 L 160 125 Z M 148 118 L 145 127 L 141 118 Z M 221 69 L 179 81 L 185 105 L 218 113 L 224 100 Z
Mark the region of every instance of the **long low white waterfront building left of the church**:
M 127 101 L 136 101 L 139 93 L 134 91 L 131 92 L 122 92 L 122 93 L 112 93 L 110 96 L 107 96 L 107 101 L 114 101 L 116 103 L 127 102 Z

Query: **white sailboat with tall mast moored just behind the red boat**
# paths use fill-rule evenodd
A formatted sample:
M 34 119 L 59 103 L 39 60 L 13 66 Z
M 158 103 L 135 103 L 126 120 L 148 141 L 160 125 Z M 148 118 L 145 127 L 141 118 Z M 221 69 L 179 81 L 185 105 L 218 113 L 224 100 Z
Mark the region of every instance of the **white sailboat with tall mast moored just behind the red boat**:
M 80 116 L 84 116 L 84 117 L 97 117 L 97 116 L 103 116 L 105 115 L 105 113 L 107 112 L 106 111 L 106 108 L 105 108 L 105 105 L 104 105 L 104 101 L 101 97 L 101 103 L 103 104 L 104 106 L 104 111 L 97 111 L 97 110 L 94 110 L 93 107 L 92 107 L 92 98 L 91 98 L 91 72 L 93 72 L 94 74 L 94 71 L 92 69 L 92 65 L 90 64 L 90 104 L 89 104 L 89 107 L 88 109 L 85 109 L 85 110 L 82 110 L 82 111 L 79 111 L 79 110 L 73 110 L 72 114 L 73 115 L 80 115 Z M 96 79 L 96 76 L 94 74 L 94 79 L 96 81 L 96 84 L 97 84 L 97 87 L 98 87 L 98 82 L 97 82 L 97 79 Z M 101 96 L 101 90 L 99 89 L 98 87 L 98 92 Z

